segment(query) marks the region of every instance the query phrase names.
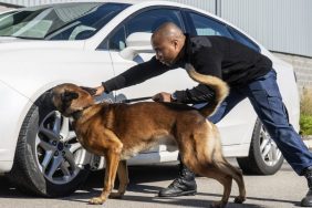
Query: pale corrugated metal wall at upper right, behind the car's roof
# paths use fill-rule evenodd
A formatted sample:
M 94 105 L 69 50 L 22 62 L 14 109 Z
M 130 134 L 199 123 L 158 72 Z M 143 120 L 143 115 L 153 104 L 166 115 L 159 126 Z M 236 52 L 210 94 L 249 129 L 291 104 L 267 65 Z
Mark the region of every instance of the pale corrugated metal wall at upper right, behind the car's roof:
M 220 17 L 267 49 L 312 58 L 311 0 L 221 0 Z

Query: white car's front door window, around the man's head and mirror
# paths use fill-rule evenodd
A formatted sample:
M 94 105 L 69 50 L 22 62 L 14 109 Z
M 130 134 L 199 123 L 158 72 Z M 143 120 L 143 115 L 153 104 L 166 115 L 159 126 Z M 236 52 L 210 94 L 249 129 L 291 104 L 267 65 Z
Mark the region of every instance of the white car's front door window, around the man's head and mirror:
M 159 25 L 165 22 L 174 22 L 184 30 L 184 24 L 181 23 L 180 12 L 175 9 L 153 9 L 144 11 L 134 15 L 131 19 L 127 19 L 123 27 L 114 31 L 108 39 L 108 49 L 110 50 L 123 50 L 125 44 L 125 39 L 134 32 L 150 32 L 153 33 Z M 102 45 L 102 46 L 101 46 Z M 100 48 L 103 49 L 101 44 Z

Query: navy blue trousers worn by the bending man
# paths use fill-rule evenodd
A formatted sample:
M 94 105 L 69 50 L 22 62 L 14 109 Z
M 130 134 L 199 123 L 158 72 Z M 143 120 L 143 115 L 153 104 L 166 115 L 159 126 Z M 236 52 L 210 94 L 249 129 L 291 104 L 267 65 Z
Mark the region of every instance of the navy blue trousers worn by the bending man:
M 312 154 L 288 122 L 274 70 L 246 86 L 231 87 L 229 96 L 208 119 L 215 124 L 218 123 L 246 97 L 251 102 L 258 117 L 287 162 L 298 175 L 302 175 L 304 168 L 312 166 Z

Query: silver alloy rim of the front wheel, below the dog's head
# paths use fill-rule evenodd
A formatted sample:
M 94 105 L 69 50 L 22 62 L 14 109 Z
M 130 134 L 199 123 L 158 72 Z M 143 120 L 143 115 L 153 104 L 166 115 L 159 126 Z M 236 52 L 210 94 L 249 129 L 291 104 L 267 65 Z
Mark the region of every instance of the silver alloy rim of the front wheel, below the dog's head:
M 49 113 L 40 124 L 35 138 L 38 166 L 53 184 L 67 184 L 77 176 L 86 159 L 72 129 L 71 119 L 58 111 Z

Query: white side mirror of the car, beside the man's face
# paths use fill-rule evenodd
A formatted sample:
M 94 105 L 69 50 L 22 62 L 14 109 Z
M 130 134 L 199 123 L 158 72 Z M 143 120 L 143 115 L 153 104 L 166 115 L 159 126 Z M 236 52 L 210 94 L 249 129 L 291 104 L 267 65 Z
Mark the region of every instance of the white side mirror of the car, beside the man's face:
M 126 48 L 119 52 L 125 60 L 133 60 L 138 53 L 153 53 L 150 45 L 152 33 L 135 32 L 126 39 Z

